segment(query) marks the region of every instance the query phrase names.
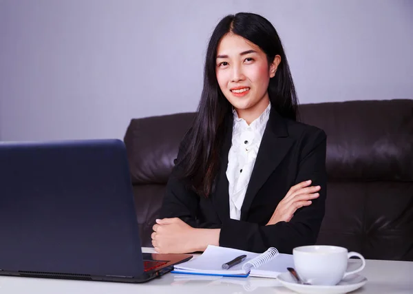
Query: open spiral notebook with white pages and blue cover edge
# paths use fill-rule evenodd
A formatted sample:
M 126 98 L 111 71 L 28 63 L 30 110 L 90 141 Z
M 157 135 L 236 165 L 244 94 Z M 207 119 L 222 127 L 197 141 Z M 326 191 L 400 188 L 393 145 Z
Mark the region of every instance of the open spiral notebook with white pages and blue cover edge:
M 237 256 L 246 255 L 244 262 L 231 269 L 222 269 L 222 264 Z M 226 277 L 277 277 L 293 267 L 293 255 L 279 253 L 271 247 L 264 253 L 209 245 L 198 258 L 173 266 L 173 273 L 192 275 L 220 275 Z

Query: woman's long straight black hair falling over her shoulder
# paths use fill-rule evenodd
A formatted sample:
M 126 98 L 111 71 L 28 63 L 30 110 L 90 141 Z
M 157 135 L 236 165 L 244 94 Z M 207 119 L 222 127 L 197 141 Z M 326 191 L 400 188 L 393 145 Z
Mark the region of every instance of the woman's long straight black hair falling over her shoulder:
M 222 37 L 232 32 L 261 48 L 268 64 L 275 56 L 281 57 L 275 76 L 270 79 L 268 96 L 281 116 L 297 120 L 297 95 L 286 54 L 273 25 L 264 17 L 240 12 L 228 15 L 216 26 L 209 40 L 204 65 L 204 87 L 193 125 L 182 146 L 182 178 L 189 180 L 190 187 L 200 196 L 208 197 L 219 168 L 220 149 L 224 137 L 225 117 L 231 114 L 231 104 L 220 90 L 215 74 L 218 45 Z

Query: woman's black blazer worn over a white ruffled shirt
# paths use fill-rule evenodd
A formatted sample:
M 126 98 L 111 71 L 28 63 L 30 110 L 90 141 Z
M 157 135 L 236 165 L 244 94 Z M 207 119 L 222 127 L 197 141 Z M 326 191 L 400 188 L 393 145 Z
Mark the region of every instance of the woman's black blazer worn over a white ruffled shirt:
M 187 183 L 178 179 L 176 166 L 167 183 L 160 217 L 178 217 L 191 227 L 219 228 L 220 246 L 246 251 L 264 252 L 274 246 L 279 252 L 292 253 L 296 246 L 315 244 L 324 218 L 327 189 L 324 131 L 282 118 L 272 108 L 242 204 L 241 218 L 232 220 L 226 178 L 232 121 L 231 115 L 211 196 L 204 198 L 189 191 Z M 181 154 L 180 150 L 178 158 Z M 312 185 L 321 186 L 319 198 L 296 211 L 290 222 L 266 226 L 290 187 L 304 180 L 313 180 Z

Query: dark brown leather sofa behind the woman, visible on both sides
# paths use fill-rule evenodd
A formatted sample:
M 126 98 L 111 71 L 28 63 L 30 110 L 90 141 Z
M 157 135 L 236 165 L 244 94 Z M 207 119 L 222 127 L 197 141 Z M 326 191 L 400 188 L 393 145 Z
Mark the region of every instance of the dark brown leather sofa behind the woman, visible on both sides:
M 299 112 L 328 136 L 326 216 L 317 244 L 413 261 L 413 100 L 306 104 Z M 137 118 L 127 128 L 142 246 L 151 246 L 151 227 L 193 115 Z

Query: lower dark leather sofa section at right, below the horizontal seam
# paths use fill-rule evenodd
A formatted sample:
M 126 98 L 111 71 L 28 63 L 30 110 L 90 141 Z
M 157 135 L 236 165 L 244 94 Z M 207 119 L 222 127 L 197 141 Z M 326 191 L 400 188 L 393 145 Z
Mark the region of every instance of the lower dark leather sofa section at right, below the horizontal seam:
M 317 244 L 365 258 L 413 260 L 413 182 L 328 182 Z

